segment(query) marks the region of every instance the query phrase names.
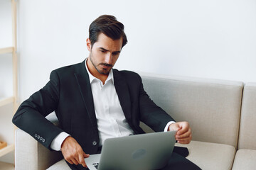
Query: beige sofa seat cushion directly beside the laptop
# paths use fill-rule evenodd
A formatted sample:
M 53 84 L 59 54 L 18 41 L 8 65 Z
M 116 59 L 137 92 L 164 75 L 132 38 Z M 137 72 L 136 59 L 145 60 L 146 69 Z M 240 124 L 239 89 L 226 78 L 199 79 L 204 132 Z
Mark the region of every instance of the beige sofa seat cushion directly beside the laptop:
M 179 147 L 188 147 L 188 157 L 191 162 L 204 170 L 231 169 L 235 157 L 235 147 L 210 142 L 191 141 L 188 145 L 176 143 Z

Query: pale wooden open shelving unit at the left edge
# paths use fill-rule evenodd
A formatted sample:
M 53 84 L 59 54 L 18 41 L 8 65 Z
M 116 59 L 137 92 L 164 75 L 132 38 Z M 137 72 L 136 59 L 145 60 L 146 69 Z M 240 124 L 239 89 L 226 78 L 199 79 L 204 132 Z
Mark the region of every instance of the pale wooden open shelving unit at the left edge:
M 17 69 L 17 55 L 16 55 L 16 49 L 17 49 L 17 35 L 16 35 L 16 1 L 15 0 L 10 0 L 11 1 L 11 18 L 12 18 L 12 42 L 13 45 L 12 47 L 4 47 L 0 48 L 0 61 L 1 61 L 1 56 L 5 54 L 11 54 L 12 56 L 12 68 L 13 68 L 13 91 L 14 94 L 11 97 L 7 98 L 0 98 L 0 107 L 7 106 L 9 104 L 13 104 L 13 112 L 15 113 L 17 108 L 18 108 L 18 69 Z M 0 113 L 1 117 L 1 113 Z M 11 123 L 11 122 L 10 122 Z M 1 131 L 0 131 L 1 134 Z M 11 134 L 14 135 L 14 134 Z M 3 149 L 0 149 L 0 157 L 9 154 L 10 152 L 13 152 L 15 149 L 14 143 L 11 145 L 7 145 L 7 147 L 4 147 Z M 1 169 L 12 169 L 14 168 L 14 164 L 8 164 L 5 162 L 0 162 Z

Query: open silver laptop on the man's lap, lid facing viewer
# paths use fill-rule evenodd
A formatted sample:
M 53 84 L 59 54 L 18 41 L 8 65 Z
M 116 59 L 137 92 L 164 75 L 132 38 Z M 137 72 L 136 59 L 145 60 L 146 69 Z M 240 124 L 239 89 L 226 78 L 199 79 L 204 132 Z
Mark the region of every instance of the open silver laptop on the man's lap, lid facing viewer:
M 161 169 L 169 162 L 176 131 L 107 139 L 101 154 L 85 158 L 90 170 Z

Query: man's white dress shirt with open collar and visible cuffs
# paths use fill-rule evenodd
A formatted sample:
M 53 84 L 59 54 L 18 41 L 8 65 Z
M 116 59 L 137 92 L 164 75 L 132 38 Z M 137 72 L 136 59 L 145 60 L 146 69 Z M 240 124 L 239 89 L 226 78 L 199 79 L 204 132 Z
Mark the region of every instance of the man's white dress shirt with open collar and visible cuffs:
M 117 91 L 114 88 L 114 76 L 112 69 L 105 81 L 105 84 L 93 77 L 87 68 L 87 60 L 85 67 L 89 74 L 92 96 L 95 106 L 95 115 L 97 119 L 97 128 L 100 137 L 100 146 L 104 141 L 112 137 L 123 137 L 128 135 L 134 135 L 132 128 L 129 127 L 124 112 L 122 111 Z M 164 132 L 167 132 L 169 125 L 175 123 L 173 121 L 167 123 Z M 70 136 L 66 132 L 61 132 L 57 135 L 53 142 L 51 142 L 50 148 L 56 151 L 60 150 L 61 144 L 66 137 Z

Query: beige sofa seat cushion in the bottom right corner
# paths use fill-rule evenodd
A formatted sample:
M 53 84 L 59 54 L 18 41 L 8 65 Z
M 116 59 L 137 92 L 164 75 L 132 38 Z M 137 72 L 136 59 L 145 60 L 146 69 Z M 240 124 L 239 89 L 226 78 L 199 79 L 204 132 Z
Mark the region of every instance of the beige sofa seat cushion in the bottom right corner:
M 233 170 L 253 170 L 256 167 L 256 150 L 239 149 L 235 154 Z

